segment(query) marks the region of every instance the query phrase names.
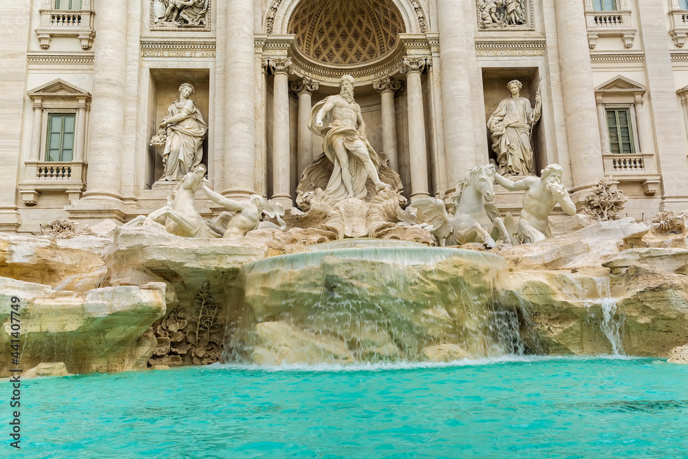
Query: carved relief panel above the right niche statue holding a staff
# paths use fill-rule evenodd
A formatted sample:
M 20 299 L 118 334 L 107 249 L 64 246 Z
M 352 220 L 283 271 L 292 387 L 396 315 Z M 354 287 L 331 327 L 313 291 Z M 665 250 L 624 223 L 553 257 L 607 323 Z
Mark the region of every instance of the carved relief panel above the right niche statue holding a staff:
M 534 30 L 533 0 L 475 0 L 480 30 Z

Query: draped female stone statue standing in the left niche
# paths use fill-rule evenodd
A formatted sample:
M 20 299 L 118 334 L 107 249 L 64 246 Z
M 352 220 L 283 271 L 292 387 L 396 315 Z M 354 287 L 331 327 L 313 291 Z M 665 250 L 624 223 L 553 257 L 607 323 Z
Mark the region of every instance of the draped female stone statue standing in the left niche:
M 160 129 L 164 129 L 166 134 L 162 152 L 164 170 L 160 180 L 182 180 L 186 173 L 194 171 L 201 164 L 208 125 L 189 98 L 193 92 L 191 84 L 182 84 L 179 87 L 179 100 L 170 104 L 168 116 L 160 123 Z

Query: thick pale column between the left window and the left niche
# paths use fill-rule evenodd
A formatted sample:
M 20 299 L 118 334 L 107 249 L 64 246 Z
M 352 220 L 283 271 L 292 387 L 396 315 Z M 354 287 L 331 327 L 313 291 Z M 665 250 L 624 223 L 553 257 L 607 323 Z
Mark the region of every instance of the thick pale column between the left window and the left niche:
M 93 96 L 89 120 L 85 199 L 120 201 L 127 81 L 127 3 L 100 1 L 96 8 Z

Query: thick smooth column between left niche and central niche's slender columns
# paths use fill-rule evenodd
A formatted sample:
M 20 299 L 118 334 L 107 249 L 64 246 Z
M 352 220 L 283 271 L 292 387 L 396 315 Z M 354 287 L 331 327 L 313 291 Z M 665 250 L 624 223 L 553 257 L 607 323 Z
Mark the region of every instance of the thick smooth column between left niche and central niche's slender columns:
M 222 6 L 224 2 L 219 2 Z M 255 193 L 255 46 L 253 1 L 226 0 L 224 191 Z

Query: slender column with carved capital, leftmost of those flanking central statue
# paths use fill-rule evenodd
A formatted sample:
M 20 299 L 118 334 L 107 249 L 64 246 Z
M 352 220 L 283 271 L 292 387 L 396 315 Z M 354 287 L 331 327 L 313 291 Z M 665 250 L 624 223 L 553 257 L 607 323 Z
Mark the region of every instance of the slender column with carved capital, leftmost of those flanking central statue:
M 272 199 L 285 209 L 292 206 L 289 191 L 289 59 L 268 61 L 275 81 L 272 88 Z

